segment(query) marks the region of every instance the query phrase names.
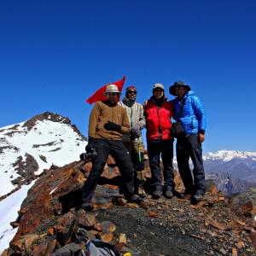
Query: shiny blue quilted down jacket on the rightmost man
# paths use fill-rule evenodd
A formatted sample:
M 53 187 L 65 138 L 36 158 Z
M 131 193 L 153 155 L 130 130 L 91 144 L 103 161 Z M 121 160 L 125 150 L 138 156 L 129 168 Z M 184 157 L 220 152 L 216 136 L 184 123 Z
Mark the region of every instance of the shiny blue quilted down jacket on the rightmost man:
M 174 107 L 173 118 L 180 120 L 183 124 L 185 134 L 199 133 L 199 131 L 206 131 L 207 115 L 200 99 L 195 96 L 195 92 L 190 90 L 183 96 L 184 106 L 182 116 L 179 117 L 180 106 L 182 100 L 177 97 L 172 100 Z

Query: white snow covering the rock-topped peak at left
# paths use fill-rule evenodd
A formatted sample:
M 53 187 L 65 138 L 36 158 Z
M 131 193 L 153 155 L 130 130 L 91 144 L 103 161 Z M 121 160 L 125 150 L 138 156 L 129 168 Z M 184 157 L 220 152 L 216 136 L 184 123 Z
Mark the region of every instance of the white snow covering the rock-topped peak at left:
M 52 164 L 65 166 L 79 160 L 79 154 L 84 152 L 86 142 L 71 125 L 50 119 L 37 121 L 30 131 L 23 125 L 24 122 L 0 129 L 0 196 L 16 187 L 11 181 L 20 176 L 15 170 L 19 157 L 25 162 L 26 155 L 32 155 L 38 163 L 35 174 L 40 174 Z

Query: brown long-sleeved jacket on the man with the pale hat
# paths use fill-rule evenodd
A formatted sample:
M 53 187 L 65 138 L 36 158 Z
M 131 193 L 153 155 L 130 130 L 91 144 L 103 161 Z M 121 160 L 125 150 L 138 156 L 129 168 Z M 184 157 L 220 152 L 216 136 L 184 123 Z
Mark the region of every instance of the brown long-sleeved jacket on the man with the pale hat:
M 104 125 L 108 121 L 121 125 L 121 131 L 107 131 Z M 125 108 L 119 105 L 110 107 L 106 102 L 96 102 L 90 112 L 89 137 L 121 140 L 122 135 L 129 132 L 130 124 Z

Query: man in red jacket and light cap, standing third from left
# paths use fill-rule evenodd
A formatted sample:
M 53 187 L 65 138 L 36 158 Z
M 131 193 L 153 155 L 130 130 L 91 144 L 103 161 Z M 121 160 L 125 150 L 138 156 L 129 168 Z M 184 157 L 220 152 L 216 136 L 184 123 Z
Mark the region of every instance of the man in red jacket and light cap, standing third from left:
M 163 84 L 154 84 L 153 96 L 144 103 L 144 114 L 147 128 L 148 159 L 152 173 L 152 197 L 159 199 L 164 189 L 167 198 L 172 198 L 173 180 L 173 138 L 170 135 L 172 126 L 172 103 L 167 102 Z M 164 166 L 164 188 L 160 176 L 160 155 Z

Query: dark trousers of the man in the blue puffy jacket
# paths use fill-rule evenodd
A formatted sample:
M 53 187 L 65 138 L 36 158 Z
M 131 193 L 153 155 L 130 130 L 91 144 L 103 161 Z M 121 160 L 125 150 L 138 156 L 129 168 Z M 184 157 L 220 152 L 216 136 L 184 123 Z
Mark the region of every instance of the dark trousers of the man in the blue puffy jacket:
M 202 160 L 201 143 L 199 143 L 197 134 L 177 138 L 176 154 L 178 172 L 182 177 L 186 192 L 189 194 L 193 194 L 195 190 L 205 192 L 205 171 Z M 189 168 L 189 157 L 194 165 L 194 181 Z

